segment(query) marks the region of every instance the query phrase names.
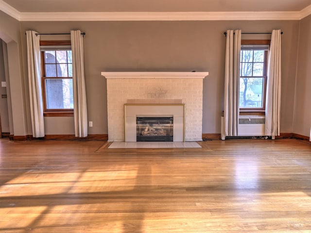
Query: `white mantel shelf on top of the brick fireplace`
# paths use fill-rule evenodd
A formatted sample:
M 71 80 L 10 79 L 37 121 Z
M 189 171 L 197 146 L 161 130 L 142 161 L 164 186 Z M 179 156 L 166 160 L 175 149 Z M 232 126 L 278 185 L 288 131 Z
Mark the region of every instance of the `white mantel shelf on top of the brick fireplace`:
M 106 79 L 204 79 L 208 72 L 102 72 Z

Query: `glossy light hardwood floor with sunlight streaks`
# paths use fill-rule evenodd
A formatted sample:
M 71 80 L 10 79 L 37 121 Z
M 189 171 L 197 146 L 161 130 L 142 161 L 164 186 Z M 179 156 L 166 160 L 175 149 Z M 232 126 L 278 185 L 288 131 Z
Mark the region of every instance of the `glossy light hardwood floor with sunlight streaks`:
M 311 232 L 311 144 L 103 144 L 0 139 L 0 232 Z

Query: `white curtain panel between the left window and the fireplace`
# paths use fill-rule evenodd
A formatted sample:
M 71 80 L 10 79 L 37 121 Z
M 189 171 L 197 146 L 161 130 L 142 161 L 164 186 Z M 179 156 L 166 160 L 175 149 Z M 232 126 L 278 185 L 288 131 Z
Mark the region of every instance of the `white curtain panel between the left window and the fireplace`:
M 74 132 L 76 137 L 87 136 L 86 85 L 84 77 L 83 35 L 70 31 L 72 50 L 72 84 L 74 105 Z

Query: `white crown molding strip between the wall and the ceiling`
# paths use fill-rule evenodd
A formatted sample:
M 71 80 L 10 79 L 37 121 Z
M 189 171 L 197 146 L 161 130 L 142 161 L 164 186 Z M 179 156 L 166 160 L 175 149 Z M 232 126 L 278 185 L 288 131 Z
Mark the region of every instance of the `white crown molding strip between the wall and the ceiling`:
M 300 20 L 311 5 L 289 12 L 19 12 L 0 0 L 0 11 L 19 21 Z

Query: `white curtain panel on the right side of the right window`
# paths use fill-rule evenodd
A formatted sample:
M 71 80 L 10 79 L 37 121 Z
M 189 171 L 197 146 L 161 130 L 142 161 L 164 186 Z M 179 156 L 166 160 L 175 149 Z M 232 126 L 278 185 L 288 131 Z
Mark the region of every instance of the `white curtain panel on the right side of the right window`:
M 280 135 L 281 109 L 281 30 L 273 30 L 268 60 L 265 134 Z

